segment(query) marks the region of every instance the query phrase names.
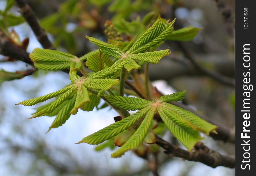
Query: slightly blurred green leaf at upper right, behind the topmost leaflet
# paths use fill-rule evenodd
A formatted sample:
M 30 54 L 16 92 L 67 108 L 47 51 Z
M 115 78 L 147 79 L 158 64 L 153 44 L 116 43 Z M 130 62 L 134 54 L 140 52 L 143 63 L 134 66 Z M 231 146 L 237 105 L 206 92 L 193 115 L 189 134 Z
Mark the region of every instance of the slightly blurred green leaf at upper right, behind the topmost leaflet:
M 178 41 L 189 41 L 193 40 L 199 31 L 203 28 L 196 28 L 193 26 L 187 26 L 185 28 L 178 29 L 172 32 L 172 35 L 167 37 L 165 40 L 178 40 Z

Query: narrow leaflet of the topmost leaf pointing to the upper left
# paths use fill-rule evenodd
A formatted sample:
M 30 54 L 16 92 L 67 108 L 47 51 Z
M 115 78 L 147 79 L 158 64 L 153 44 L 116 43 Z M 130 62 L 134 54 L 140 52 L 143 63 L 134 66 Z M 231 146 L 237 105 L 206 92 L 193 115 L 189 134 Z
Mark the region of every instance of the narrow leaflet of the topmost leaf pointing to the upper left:
M 105 54 L 107 54 L 109 57 L 114 57 L 114 58 L 121 58 L 122 57 L 122 50 L 119 48 L 110 45 L 109 43 L 102 42 L 96 38 L 86 36 L 90 40 L 90 42 L 94 43 L 97 45 Z

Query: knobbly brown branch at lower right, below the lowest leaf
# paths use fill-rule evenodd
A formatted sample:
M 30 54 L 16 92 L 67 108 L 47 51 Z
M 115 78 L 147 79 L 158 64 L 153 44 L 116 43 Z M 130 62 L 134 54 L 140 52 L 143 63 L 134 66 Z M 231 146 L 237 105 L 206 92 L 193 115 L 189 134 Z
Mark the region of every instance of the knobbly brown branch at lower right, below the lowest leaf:
M 210 167 L 224 166 L 235 168 L 235 157 L 222 155 L 219 152 L 209 149 L 204 143 L 198 142 L 192 151 L 184 150 L 157 136 L 157 145 L 165 149 L 164 153 L 184 158 L 189 161 L 204 163 Z

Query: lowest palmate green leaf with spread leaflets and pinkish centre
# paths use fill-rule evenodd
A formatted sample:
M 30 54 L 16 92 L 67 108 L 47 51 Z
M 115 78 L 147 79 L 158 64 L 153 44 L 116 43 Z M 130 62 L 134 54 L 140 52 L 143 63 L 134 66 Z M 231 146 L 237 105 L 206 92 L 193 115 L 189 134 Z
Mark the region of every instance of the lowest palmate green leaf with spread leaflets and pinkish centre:
M 117 131 L 121 133 L 122 131 L 130 127 L 126 126 L 127 128 L 122 128 L 122 130 L 119 131 L 119 124 L 121 124 L 121 122 L 130 121 L 131 118 L 139 121 L 139 119 L 141 119 L 140 112 L 143 114 L 143 116 L 145 115 L 144 120 L 139 125 L 136 132 L 131 136 L 131 138 L 124 145 L 122 145 L 120 149 L 112 153 L 112 157 L 114 158 L 120 157 L 127 150 L 136 149 L 144 141 L 144 138 L 147 136 L 155 113 L 158 113 L 160 115 L 162 121 L 165 123 L 167 128 L 188 150 L 191 150 L 195 143 L 202 139 L 202 137 L 200 136 L 200 132 L 209 135 L 210 132 L 215 132 L 215 129 L 217 128 L 217 126 L 208 123 L 207 121 L 201 119 L 195 114 L 165 102 L 182 100 L 185 97 L 185 91 L 164 95 L 160 97 L 156 102 L 134 97 L 122 97 L 112 95 L 104 97 L 107 98 L 107 100 L 113 106 L 126 110 L 139 109 L 139 111 L 125 119 L 122 119 L 121 121 L 113 123 L 112 125 L 90 136 L 83 138 L 82 141 L 80 141 L 79 143 L 102 143 L 105 140 L 112 138 L 114 135 L 117 135 Z M 134 121 L 133 124 L 135 124 Z

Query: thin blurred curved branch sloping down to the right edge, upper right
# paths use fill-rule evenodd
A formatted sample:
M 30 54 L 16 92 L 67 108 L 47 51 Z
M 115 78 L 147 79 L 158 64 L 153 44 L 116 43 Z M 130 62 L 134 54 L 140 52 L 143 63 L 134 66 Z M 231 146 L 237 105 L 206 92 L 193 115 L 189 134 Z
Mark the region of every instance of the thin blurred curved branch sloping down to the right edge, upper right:
M 193 58 L 192 54 L 189 52 L 189 50 L 187 50 L 187 48 L 183 45 L 183 43 L 181 43 L 179 41 L 177 41 L 176 43 L 179 46 L 179 48 L 182 50 L 185 57 L 192 63 L 192 65 L 198 71 L 202 72 L 204 75 L 209 76 L 212 79 L 215 79 L 216 81 L 218 81 L 218 82 L 220 82 L 224 85 L 235 87 L 235 80 L 234 79 L 231 79 L 229 77 L 221 75 L 218 72 L 207 70 L 204 67 L 201 67 L 201 65 L 196 62 L 196 60 Z

